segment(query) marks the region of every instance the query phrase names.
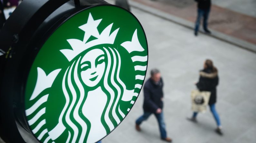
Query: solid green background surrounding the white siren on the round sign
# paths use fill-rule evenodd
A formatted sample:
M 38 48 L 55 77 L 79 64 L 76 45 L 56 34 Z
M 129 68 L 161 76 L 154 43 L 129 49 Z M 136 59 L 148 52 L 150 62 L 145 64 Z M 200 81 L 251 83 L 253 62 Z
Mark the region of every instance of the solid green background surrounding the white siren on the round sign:
M 43 107 L 46 107 L 46 113 L 41 116 L 41 118 L 46 119 L 46 124 L 44 126 L 48 129 L 48 131 L 51 131 L 52 127 L 57 125 L 58 116 L 60 115 L 65 104 L 65 98 L 62 92 L 63 76 L 59 75 L 64 75 L 67 67 L 71 65 L 71 62 L 66 59 L 66 57 L 60 52 L 60 50 L 72 49 L 70 44 L 67 42 L 67 39 L 80 39 L 81 41 L 83 40 L 84 31 L 78 27 L 87 23 L 89 13 L 92 14 L 94 20 L 102 19 L 99 26 L 97 27 L 99 33 L 101 33 L 103 29 L 111 23 L 113 23 L 113 26 L 110 33 L 119 28 L 118 34 L 112 47 L 116 48 L 120 53 L 122 64 L 119 77 L 126 84 L 127 89 L 133 90 L 135 84 L 139 83 L 142 85 L 144 82 L 142 80 L 135 80 L 135 75 L 146 75 L 146 71 L 135 71 L 134 66 L 136 62 L 132 62 L 131 60 L 131 57 L 136 55 L 148 55 L 146 36 L 138 20 L 128 11 L 111 5 L 95 6 L 78 12 L 77 14 L 73 15 L 71 18 L 63 22 L 62 25 L 57 28 L 43 44 L 42 48 L 38 52 L 33 62 L 27 79 L 25 88 L 25 109 L 31 107 L 43 95 L 49 94 L 47 102 L 43 103 L 43 105 L 41 105 L 39 109 L 37 109 L 39 111 Z M 139 42 L 141 46 L 145 49 L 145 51 L 135 51 L 128 53 L 127 50 L 120 44 L 126 41 L 131 41 L 135 29 L 137 29 L 137 36 Z M 89 40 L 93 39 L 95 39 L 95 37 L 91 36 Z M 141 66 L 146 66 L 147 62 L 139 64 Z M 37 80 L 37 67 L 42 68 L 45 71 L 46 75 L 48 75 L 55 69 L 61 68 L 62 70 L 56 77 L 51 88 L 45 89 L 42 93 L 39 94 L 38 97 L 29 101 Z M 140 89 L 136 89 L 135 92 L 139 93 Z M 136 100 L 134 98 L 136 97 L 133 97 L 132 100 Z M 127 115 L 127 109 L 131 108 L 132 106 L 133 105 L 130 104 L 130 102 L 122 101 L 122 103 L 120 104 L 120 109 L 125 115 Z M 27 116 L 27 120 L 32 119 L 35 113 Z M 31 125 L 30 128 L 35 128 L 35 125 L 38 124 L 40 121 L 41 120 L 39 119 L 36 123 Z M 117 124 L 115 124 L 114 126 L 116 127 Z M 40 129 L 35 134 L 35 136 L 38 137 L 39 133 L 41 133 L 42 130 L 43 129 Z M 107 134 L 108 133 L 109 132 L 107 132 Z M 66 134 L 66 137 L 67 136 L 68 135 Z M 45 138 L 46 137 L 43 137 L 41 141 Z M 65 139 L 62 140 L 58 138 L 54 140 L 54 142 L 65 142 Z

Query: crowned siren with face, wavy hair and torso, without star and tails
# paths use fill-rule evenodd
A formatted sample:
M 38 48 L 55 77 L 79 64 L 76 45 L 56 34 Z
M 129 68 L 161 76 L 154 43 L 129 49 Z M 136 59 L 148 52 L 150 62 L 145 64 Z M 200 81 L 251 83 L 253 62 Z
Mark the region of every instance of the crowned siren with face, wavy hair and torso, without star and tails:
M 91 14 L 89 19 L 90 16 Z M 71 65 L 66 69 L 62 80 L 62 90 L 66 99 L 59 117 L 59 124 L 62 125 L 57 125 L 56 129 L 50 131 L 50 136 L 55 136 L 56 132 L 59 132 L 58 126 L 63 126 L 62 128 L 69 132 L 67 142 L 96 142 L 100 140 L 99 137 L 104 137 L 112 131 L 125 117 L 119 107 L 120 100 L 123 95 L 132 97 L 134 90 L 127 90 L 119 78 L 119 52 L 115 48 L 104 47 L 106 44 L 114 43 L 119 30 L 118 28 L 110 34 L 111 28 L 112 24 L 98 35 L 98 39 L 87 43 L 78 39 L 68 39 L 72 50 L 61 50 Z M 90 36 L 85 32 L 84 37 L 87 41 Z M 75 88 L 78 88 L 79 92 Z M 125 99 L 127 97 L 123 98 Z M 65 121 L 66 123 L 62 123 Z

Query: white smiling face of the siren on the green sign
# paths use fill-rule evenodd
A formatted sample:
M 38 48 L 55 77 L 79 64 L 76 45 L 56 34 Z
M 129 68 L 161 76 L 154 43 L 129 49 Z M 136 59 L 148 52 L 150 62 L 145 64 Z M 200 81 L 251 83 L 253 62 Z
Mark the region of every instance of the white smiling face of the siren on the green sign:
M 81 78 L 89 87 L 96 86 L 105 71 L 105 56 L 100 49 L 87 52 L 81 60 Z

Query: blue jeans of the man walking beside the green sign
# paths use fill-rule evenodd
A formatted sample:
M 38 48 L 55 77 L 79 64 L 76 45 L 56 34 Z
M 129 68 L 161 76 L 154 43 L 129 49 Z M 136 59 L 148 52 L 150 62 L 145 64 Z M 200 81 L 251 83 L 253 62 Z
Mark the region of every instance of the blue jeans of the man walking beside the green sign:
M 144 114 L 136 120 L 136 124 L 140 125 L 143 121 L 147 120 L 147 118 L 151 114 L 152 113 L 150 113 L 150 112 L 144 112 Z M 163 114 L 163 112 L 161 112 L 160 114 L 154 113 L 154 115 L 156 116 L 156 119 L 157 119 L 157 122 L 158 122 L 158 125 L 159 125 L 161 138 L 165 139 L 166 138 L 166 127 L 165 127 L 165 122 L 164 122 L 164 114 Z

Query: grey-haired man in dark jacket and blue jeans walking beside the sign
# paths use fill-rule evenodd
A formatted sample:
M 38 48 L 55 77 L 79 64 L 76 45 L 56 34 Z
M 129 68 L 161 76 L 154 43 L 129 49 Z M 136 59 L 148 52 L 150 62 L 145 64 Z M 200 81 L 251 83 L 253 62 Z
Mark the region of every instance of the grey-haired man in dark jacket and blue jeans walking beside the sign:
M 147 120 L 147 118 L 153 113 L 156 116 L 161 139 L 167 142 L 172 142 L 172 139 L 166 136 L 166 127 L 164 123 L 163 114 L 163 80 L 159 70 L 151 70 L 151 77 L 147 80 L 144 85 L 144 103 L 143 110 L 144 114 L 136 120 L 136 130 L 141 131 L 139 125 Z

